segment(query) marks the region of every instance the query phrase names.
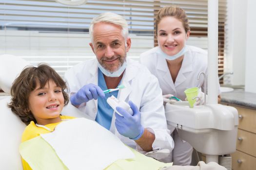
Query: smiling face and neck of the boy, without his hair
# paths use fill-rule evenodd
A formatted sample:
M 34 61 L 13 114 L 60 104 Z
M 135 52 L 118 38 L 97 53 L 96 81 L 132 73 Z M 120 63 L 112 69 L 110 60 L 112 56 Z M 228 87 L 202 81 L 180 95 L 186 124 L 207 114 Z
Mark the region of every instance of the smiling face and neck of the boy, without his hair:
M 58 87 L 53 80 L 47 82 L 43 88 L 37 83 L 36 89 L 29 95 L 28 105 L 38 124 L 61 121 L 59 115 L 64 106 L 61 87 Z

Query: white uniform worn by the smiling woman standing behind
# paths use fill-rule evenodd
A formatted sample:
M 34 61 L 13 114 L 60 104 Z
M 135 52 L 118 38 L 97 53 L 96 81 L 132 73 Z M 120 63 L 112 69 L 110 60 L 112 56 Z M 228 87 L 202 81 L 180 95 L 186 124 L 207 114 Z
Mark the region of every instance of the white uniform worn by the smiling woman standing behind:
M 203 76 L 200 76 L 199 80 L 197 80 L 197 76 L 203 71 L 206 74 L 207 81 L 207 52 L 197 47 L 187 47 L 188 51 L 184 54 L 175 83 L 171 77 L 166 59 L 156 52 L 157 47 L 140 54 L 140 63 L 145 65 L 158 78 L 163 95 L 173 94 L 177 98 L 185 100 L 184 90 L 187 88 L 197 86 L 201 87 L 202 92 L 205 91 Z M 218 94 L 220 94 L 220 90 Z M 175 127 L 172 126 L 168 126 L 168 128 L 171 133 L 175 130 Z M 193 151 L 192 147 L 187 142 L 180 140 L 177 132 L 173 133 L 172 136 L 175 140 L 175 149 L 171 159 L 176 165 L 189 165 Z

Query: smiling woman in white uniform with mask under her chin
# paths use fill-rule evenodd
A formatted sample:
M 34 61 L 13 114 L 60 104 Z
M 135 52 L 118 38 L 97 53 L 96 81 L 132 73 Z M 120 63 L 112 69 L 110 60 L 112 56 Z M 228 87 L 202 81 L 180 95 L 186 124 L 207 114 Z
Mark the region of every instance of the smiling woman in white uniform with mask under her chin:
M 184 101 L 184 90 L 197 86 L 201 87 L 198 97 L 203 103 L 207 89 L 204 89 L 203 77 L 198 81 L 197 76 L 201 71 L 207 76 L 207 52 L 186 45 L 190 27 L 185 11 L 172 6 L 160 9 L 156 17 L 156 34 L 158 47 L 143 52 L 140 62 L 158 78 L 164 101 L 168 102 L 171 96 Z M 220 100 L 220 96 L 218 98 Z M 175 141 L 170 161 L 173 161 L 174 165 L 190 165 L 192 146 L 179 138 L 174 127 L 168 128 Z

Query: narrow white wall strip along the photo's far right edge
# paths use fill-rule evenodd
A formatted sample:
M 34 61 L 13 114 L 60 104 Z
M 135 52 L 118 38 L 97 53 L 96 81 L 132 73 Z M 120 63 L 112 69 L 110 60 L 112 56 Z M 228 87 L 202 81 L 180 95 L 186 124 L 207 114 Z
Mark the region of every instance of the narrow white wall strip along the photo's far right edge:
M 256 0 L 247 0 L 245 91 L 256 93 Z

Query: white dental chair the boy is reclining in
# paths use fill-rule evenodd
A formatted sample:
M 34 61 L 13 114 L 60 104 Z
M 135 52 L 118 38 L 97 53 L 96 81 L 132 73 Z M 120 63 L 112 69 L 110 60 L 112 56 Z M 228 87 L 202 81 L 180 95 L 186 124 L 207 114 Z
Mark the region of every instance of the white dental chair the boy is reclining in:
M 13 55 L 0 55 L 0 59 L 0 87 L 5 93 L 10 93 L 12 82 L 22 69 L 30 64 Z M 0 100 L 0 169 L 22 170 L 19 145 L 26 125 L 7 106 L 10 101 L 11 96 Z M 63 108 L 61 114 L 77 118 L 85 117 L 70 103 Z

